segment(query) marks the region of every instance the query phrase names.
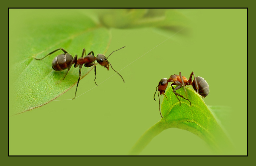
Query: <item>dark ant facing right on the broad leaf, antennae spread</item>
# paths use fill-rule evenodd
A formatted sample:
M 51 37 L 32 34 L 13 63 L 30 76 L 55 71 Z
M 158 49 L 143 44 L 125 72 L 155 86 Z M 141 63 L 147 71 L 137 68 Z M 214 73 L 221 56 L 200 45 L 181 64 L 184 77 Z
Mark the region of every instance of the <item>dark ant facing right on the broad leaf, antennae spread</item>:
M 122 48 L 124 48 L 124 47 L 122 47 Z M 122 49 L 122 48 L 120 48 L 120 49 Z M 118 50 L 120 50 L 120 49 L 118 49 Z M 77 87 L 78 87 L 78 84 L 79 84 L 79 81 L 80 81 L 80 78 L 81 78 L 81 68 L 82 68 L 83 65 L 84 65 L 84 67 L 94 66 L 94 73 L 95 73 L 94 82 L 96 83 L 96 81 L 95 81 L 96 80 L 96 64 L 94 63 L 94 61 L 97 60 L 97 62 L 101 66 L 106 67 L 108 70 L 109 70 L 109 65 L 113 69 L 111 63 L 108 61 L 108 58 L 111 56 L 111 54 L 113 52 L 118 51 L 118 50 L 113 51 L 108 57 L 105 57 L 105 55 L 103 55 L 103 54 L 98 54 L 97 57 L 95 57 L 93 51 L 91 51 L 87 56 L 83 57 L 84 55 L 86 55 L 85 54 L 85 49 L 83 49 L 81 58 L 77 58 L 77 55 L 73 58 L 72 55 L 70 55 L 63 48 L 58 48 L 58 49 L 50 52 L 48 55 L 51 55 L 51 54 L 55 53 L 58 50 L 62 50 L 64 52 L 64 54 L 60 54 L 60 55 L 58 55 L 57 57 L 55 57 L 53 59 L 52 64 L 51 64 L 53 70 L 60 71 L 60 70 L 68 69 L 68 71 L 66 73 L 66 75 L 67 75 L 73 64 L 74 64 L 74 67 L 79 66 L 79 78 L 78 78 L 78 82 L 77 82 Z M 48 55 L 46 55 L 45 57 L 47 57 Z M 41 59 L 44 59 L 44 58 L 41 58 Z M 36 60 L 41 60 L 41 59 L 37 59 L 37 58 L 35 58 L 35 59 Z M 123 77 L 117 71 L 115 71 L 115 72 L 123 79 Z M 66 75 L 64 76 L 63 80 L 65 79 Z M 124 82 L 124 79 L 123 79 L 123 82 Z M 96 85 L 98 85 L 98 84 L 96 83 Z M 75 97 L 73 99 L 76 98 L 76 94 L 77 94 L 77 89 L 76 89 Z

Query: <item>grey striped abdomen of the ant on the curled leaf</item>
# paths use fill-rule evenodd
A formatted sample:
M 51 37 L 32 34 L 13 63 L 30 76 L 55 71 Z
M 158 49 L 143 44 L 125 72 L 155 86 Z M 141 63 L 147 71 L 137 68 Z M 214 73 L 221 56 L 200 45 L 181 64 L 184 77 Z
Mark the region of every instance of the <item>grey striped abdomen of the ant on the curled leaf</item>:
M 195 79 L 196 79 L 196 81 L 198 83 L 198 87 L 199 87 L 198 88 L 198 93 L 202 97 L 206 97 L 209 94 L 209 91 L 210 91 L 208 83 L 202 77 L 196 77 Z M 192 82 L 192 86 L 193 86 L 194 90 L 197 91 L 195 80 Z

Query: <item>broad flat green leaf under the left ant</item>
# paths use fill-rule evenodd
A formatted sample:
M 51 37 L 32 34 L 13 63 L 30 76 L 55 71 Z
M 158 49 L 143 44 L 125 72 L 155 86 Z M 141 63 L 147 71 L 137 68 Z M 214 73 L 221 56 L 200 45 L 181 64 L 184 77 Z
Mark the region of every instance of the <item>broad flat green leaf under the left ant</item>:
M 10 67 L 12 71 L 11 90 L 15 95 L 12 100 L 14 109 L 9 115 L 15 115 L 36 107 L 43 106 L 56 99 L 74 86 L 79 77 L 78 68 L 72 67 L 63 80 L 67 70 L 54 71 L 51 67 L 52 60 L 63 52 L 56 53 L 42 60 L 42 58 L 57 48 L 64 48 L 73 57 L 82 54 L 86 49 L 88 54 L 94 51 L 97 55 L 105 53 L 110 44 L 110 32 L 99 27 L 90 18 L 76 12 L 57 14 L 56 11 L 42 12 L 37 17 L 31 17 L 31 12 L 23 13 L 22 17 L 28 17 L 26 22 L 20 23 L 20 32 L 15 36 L 16 45 L 10 46 L 10 61 L 14 62 Z M 39 12 L 40 13 L 40 12 Z M 54 16 L 52 16 L 54 15 Z M 18 17 L 18 16 L 16 16 Z M 93 67 L 82 68 L 82 78 Z M 97 80 L 96 80 L 97 81 Z M 74 94 L 75 95 L 75 94 Z M 72 99 L 74 96 L 70 96 Z

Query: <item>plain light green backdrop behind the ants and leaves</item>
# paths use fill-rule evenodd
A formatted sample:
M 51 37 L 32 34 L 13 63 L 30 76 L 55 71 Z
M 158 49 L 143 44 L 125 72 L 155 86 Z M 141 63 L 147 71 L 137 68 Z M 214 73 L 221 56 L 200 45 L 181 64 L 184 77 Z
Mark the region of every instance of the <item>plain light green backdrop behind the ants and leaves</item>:
M 246 155 L 247 91 L 246 83 L 237 82 L 245 80 L 247 73 L 247 10 L 183 12 L 191 19 L 189 33 L 168 40 L 171 35 L 150 28 L 112 29 L 106 55 L 126 46 L 110 59 L 115 70 L 125 67 L 119 72 L 125 84 L 118 75 L 111 77 L 111 69 L 107 72 L 98 67 L 98 83 L 111 78 L 95 87 L 94 73 L 89 73 L 80 81 L 77 95 L 95 88 L 79 98 L 66 100 L 73 98 L 73 87 L 56 99 L 59 101 L 10 117 L 9 155 L 126 155 L 144 131 L 161 118 L 158 102 L 153 100 L 160 79 L 179 72 L 189 77 L 192 71 L 210 85 L 204 99 L 207 105 L 231 107 L 227 130 L 237 149 L 231 155 Z M 10 83 L 12 79 L 9 75 Z M 141 153 L 211 154 L 203 140 L 179 129 L 165 130 Z

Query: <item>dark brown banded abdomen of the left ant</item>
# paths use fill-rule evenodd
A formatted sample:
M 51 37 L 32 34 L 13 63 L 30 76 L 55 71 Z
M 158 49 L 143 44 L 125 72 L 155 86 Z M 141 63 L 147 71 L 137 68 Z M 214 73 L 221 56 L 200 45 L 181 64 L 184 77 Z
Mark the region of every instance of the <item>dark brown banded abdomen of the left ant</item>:
M 51 66 L 53 70 L 56 70 L 56 71 L 65 70 L 69 68 L 72 60 L 73 60 L 72 55 L 61 54 L 53 59 Z

